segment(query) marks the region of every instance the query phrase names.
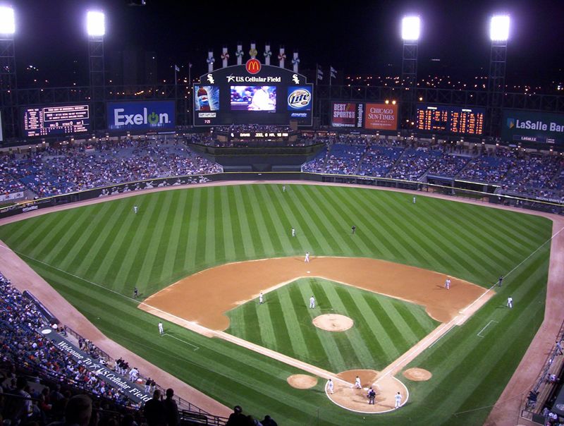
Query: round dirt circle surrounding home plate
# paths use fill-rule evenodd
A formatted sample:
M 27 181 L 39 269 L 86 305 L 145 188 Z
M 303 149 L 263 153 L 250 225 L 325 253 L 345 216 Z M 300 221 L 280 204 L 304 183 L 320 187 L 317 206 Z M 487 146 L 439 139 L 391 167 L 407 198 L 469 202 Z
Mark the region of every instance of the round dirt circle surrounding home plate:
M 354 386 L 355 378 L 360 378 L 361 389 Z M 368 390 L 372 387 L 376 391 L 374 405 L 368 403 Z M 396 377 L 379 377 L 375 370 L 348 370 L 341 372 L 333 379 L 333 394 L 325 389 L 327 396 L 336 405 L 357 413 L 377 414 L 395 410 L 395 396 L 399 392 L 403 405 L 407 401 L 409 392 L 405 384 Z

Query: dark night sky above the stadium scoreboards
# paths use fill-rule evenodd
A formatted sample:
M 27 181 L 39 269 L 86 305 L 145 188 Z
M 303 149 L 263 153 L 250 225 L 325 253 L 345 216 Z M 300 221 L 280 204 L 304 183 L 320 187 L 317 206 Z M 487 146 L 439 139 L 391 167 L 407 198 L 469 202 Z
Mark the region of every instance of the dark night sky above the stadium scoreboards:
M 127 0 L 14 0 L 18 74 L 32 64 L 48 85 L 86 85 L 87 37 L 85 12 L 106 12 L 107 52 L 123 49 L 155 51 L 159 79 L 171 77 L 173 63 L 194 63 L 192 75 L 203 73 L 209 47 L 216 61 L 221 47 L 257 42 L 262 59 L 264 42 L 271 42 L 273 63 L 278 46 L 288 58 L 300 52 L 300 68 L 316 63 L 332 65 L 346 74 L 392 75 L 400 72 L 400 20 L 408 13 L 422 18 L 419 76 L 429 72 L 470 78 L 487 75 L 489 16 L 508 13 L 512 19 L 508 47 L 508 83 L 546 84 L 562 80 L 564 68 L 564 7 L 553 1 L 217 1 L 147 0 L 146 6 L 128 6 Z M 325 3 L 325 4 L 324 4 Z M 271 6 L 283 5 L 277 11 Z M 266 10 L 266 6 L 270 6 Z M 349 8 L 348 6 L 352 6 Z M 430 59 L 439 58 L 439 68 Z M 71 64 L 78 73 L 71 73 Z M 388 66 L 392 64 L 393 66 Z M 183 69 L 183 73 L 185 68 Z M 20 79 L 25 85 L 26 78 Z

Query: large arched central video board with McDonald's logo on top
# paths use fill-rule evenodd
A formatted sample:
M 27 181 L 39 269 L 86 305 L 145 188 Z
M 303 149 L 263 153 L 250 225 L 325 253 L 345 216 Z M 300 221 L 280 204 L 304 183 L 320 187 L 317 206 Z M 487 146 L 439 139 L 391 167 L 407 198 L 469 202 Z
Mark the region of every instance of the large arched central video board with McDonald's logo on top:
M 194 125 L 312 126 L 313 85 L 305 76 L 257 59 L 200 76 L 194 90 Z

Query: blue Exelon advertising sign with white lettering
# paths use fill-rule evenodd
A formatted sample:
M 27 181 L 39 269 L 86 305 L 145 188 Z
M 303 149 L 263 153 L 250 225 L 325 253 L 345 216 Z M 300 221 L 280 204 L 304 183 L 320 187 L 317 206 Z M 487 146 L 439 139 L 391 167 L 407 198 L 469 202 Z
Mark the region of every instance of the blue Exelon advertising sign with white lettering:
M 163 130 L 175 126 L 174 101 L 108 102 L 108 130 Z

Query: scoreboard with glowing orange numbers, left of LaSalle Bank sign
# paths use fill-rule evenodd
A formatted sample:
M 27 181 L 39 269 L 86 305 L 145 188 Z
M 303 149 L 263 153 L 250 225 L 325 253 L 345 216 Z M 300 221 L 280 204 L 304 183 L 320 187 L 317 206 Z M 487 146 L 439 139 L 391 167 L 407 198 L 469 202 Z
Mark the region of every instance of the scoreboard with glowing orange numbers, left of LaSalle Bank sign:
M 484 114 L 483 108 L 418 104 L 417 129 L 436 133 L 482 135 Z

